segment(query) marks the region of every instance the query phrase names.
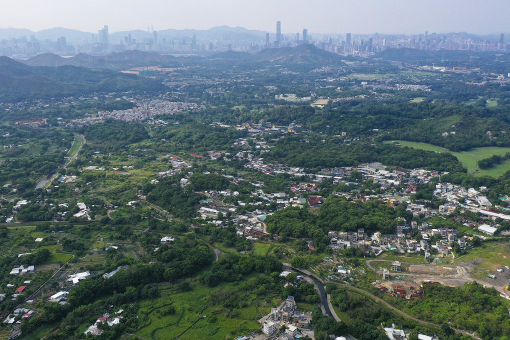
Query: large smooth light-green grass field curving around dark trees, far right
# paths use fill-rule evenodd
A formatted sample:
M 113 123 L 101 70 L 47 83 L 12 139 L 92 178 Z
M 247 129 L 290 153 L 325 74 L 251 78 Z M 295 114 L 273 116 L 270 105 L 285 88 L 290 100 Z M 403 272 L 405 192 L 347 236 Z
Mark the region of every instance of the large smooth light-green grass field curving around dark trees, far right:
M 481 159 L 489 158 L 492 155 L 495 154 L 505 154 L 506 152 L 510 152 L 510 147 L 497 147 L 497 146 L 490 146 L 490 147 L 481 147 L 481 148 L 474 148 L 469 151 L 461 151 L 461 152 L 454 152 L 450 151 L 448 149 L 445 149 L 440 146 L 427 144 L 427 143 L 420 143 L 420 142 L 408 142 L 408 141 L 396 141 L 401 146 L 409 146 L 415 149 L 422 149 L 426 151 L 434 151 L 434 152 L 448 152 L 453 154 L 459 162 L 462 163 L 464 167 L 468 169 L 468 173 L 472 173 L 475 176 L 492 176 L 492 177 L 499 177 L 500 175 L 504 174 L 506 171 L 510 170 L 510 161 L 505 161 L 502 164 L 499 164 L 495 166 L 492 169 L 480 169 L 478 168 L 478 165 L 476 162 L 478 162 Z M 392 141 L 389 141 L 388 143 L 392 143 Z

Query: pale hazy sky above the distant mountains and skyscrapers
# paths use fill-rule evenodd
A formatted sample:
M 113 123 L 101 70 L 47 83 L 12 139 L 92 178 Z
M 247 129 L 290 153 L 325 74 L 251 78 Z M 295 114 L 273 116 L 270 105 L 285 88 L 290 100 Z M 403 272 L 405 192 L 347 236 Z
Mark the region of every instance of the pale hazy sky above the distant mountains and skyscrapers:
M 242 26 L 282 33 L 510 32 L 508 0 L 1 0 L 0 27 L 97 33 Z

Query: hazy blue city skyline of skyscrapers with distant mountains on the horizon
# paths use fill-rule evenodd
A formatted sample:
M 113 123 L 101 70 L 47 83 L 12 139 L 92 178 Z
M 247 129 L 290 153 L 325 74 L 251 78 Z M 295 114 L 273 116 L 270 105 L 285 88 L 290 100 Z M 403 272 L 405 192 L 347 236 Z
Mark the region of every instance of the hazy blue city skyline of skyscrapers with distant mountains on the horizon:
M 285 22 L 284 22 L 285 24 Z M 285 26 L 284 26 L 285 28 Z M 308 29 L 295 34 L 282 33 L 281 21 L 276 22 L 275 32 L 249 31 L 243 28 L 218 27 L 206 31 L 183 32 L 175 30 L 155 31 L 154 26 L 147 31 L 127 31 L 110 34 L 108 25 L 97 34 L 68 32 L 71 37 L 57 36 L 65 29 L 40 33 L 31 32 L 27 36 L 14 36 L 10 31 L 2 34 L 0 30 L 0 54 L 27 58 L 41 53 L 55 53 L 61 56 L 73 56 L 80 53 L 106 55 L 125 50 L 156 51 L 162 54 L 212 54 L 226 50 L 257 52 L 264 48 L 296 47 L 312 43 L 317 47 L 340 55 L 368 57 L 390 48 L 416 48 L 420 50 L 468 50 L 468 51 L 506 51 L 508 41 L 500 36 L 478 36 L 467 33 L 421 34 L 309 34 Z M 210 31 L 210 32 L 209 32 Z

